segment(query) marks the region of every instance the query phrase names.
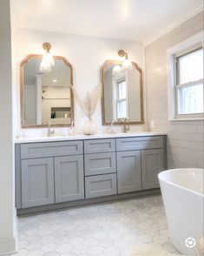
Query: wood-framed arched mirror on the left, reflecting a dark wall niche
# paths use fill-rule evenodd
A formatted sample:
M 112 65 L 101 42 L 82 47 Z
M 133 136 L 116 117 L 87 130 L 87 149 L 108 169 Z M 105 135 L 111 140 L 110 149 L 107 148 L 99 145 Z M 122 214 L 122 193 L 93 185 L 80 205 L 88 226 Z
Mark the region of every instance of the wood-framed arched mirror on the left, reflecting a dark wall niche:
M 30 54 L 20 64 L 21 123 L 23 128 L 70 126 L 74 120 L 72 66 L 54 56 L 50 71 L 40 71 L 43 56 Z

